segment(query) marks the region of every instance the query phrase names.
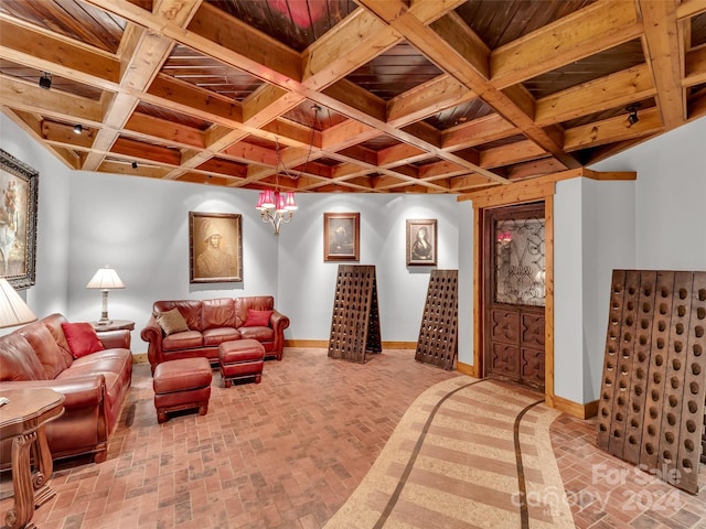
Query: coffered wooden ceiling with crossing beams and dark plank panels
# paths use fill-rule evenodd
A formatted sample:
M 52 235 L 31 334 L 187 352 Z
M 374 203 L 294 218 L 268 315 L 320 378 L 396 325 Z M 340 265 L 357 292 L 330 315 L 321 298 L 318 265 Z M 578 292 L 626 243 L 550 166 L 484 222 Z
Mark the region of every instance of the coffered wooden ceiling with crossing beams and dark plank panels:
M 3 0 L 0 83 L 75 170 L 461 194 L 706 115 L 706 0 Z

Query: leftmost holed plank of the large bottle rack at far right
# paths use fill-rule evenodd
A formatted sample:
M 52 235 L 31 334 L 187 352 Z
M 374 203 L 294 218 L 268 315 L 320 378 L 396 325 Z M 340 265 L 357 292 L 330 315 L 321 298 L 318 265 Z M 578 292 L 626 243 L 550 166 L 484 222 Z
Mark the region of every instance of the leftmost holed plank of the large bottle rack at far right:
M 618 344 L 622 321 L 622 303 L 625 271 L 613 270 L 610 281 L 610 305 L 608 311 L 608 331 L 606 332 L 606 354 L 603 356 L 603 378 L 598 404 L 598 446 L 608 450 L 610 422 L 616 399 L 616 366 L 618 365 Z

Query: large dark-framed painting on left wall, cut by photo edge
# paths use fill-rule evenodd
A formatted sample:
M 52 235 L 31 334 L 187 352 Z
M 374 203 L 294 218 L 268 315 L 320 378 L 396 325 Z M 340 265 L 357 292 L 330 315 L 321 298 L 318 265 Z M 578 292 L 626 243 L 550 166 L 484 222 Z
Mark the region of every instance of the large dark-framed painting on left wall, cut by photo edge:
M 0 277 L 15 289 L 35 280 L 39 176 L 0 149 Z

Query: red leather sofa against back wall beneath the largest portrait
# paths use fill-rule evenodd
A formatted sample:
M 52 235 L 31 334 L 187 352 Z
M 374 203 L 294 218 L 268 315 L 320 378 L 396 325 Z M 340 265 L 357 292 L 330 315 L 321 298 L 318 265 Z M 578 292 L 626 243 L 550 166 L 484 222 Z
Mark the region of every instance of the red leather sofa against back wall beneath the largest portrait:
M 178 309 L 188 331 L 165 335 L 156 315 Z M 271 311 L 267 325 L 250 326 L 248 310 Z M 156 301 L 140 336 L 148 343 L 147 356 L 154 373 L 158 364 L 178 358 L 204 357 L 218 361 L 218 344 L 240 338 L 257 339 L 266 358 L 282 359 L 289 317 L 275 310 L 271 295 L 217 298 L 213 300 Z

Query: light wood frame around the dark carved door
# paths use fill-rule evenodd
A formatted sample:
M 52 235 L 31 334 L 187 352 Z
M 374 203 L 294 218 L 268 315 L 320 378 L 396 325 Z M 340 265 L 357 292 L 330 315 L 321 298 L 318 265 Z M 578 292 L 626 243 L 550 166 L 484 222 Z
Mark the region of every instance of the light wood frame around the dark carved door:
M 512 193 L 473 194 L 473 367 L 477 378 L 483 377 L 485 349 L 485 300 L 483 289 L 484 247 L 483 225 L 485 209 L 544 201 L 545 234 L 545 305 L 544 305 L 544 397 L 547 406 L 556 408 L 554 395 L 554 192 L 555 182 L 538 185 L 517 185 Z

